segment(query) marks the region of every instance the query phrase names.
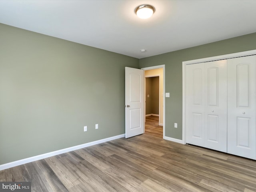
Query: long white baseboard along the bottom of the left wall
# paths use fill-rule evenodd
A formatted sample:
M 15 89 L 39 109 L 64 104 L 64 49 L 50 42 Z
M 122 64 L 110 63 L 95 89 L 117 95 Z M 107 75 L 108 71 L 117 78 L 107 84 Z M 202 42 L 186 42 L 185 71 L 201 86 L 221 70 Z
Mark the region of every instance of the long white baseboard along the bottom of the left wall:
M 97 141 L 93 141 L 93 142 L 73 146 L 73 147 L 69 147 L 69 148 L 65 148 L 65 149 L 61 149 L 61 150 L 57 150 L 57 151 L 53 151 L 53 152 L 49 152 L 49 153 L 29 157 L 29 158 L 26 158 L 26 159 L 21 159 L 21 160 L 18 160 L 18 161 L 2 164 L 2 165 L 0 165 L 0 171 L 4 170 L 4 169 L 11 168 L 11 167 L 15 167 L 15 166 L 18 166 L 18 165 L 22 165 L 22 164 L 30 163 L 30 162 L 33 162 L 33 161 L 37 161 L 37 160 L 40 160 L 40 159 L 44 159 L 44 158 L 52 157 L 52 156 L 55 156 L 55 155 L 59 155 L 59 154 L 62 154 L 62 153 L 66 153 L 66 152 L 82 149 L 82 148 L 85 148 L 85 147 L 89 147 L 89 146 L 92 146 L 92 145 L 104 143 L 104 142 L 107 142 L 107 141 L 119 139 L 119 138 L 122 138 L 122 137 L 125 137 L 125 134 L 121 134 L 121 135 L 117 135 L 117 136 L 113 136 L 113 137 L 109 137 L 109 138 L 105 138 L 105 139 L 101 139 L 101 140 L 97 140 Z

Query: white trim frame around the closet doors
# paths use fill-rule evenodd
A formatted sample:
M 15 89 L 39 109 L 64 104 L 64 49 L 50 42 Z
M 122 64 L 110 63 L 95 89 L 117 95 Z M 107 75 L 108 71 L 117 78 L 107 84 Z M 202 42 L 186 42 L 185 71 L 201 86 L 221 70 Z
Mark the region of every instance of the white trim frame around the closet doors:
M 220 56 L 213 56 L 195 60 L 189 60 L 182 62 L 182 143 L 186 144 L 186 65 L 203 63 L 215 60 L 230 59 L 236 57 L 243 57 L 249 55 L 256 55 L 256 50 L 237 52 L 231 54 L 225 54 Z

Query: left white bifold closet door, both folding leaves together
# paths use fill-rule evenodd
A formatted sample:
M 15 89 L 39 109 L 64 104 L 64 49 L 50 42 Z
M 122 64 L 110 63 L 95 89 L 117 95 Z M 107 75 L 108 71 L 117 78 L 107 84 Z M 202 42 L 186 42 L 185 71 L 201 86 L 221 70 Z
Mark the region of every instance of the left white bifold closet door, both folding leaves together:
M 227 152 L 226 62 L 186 66 L 186 143 Z

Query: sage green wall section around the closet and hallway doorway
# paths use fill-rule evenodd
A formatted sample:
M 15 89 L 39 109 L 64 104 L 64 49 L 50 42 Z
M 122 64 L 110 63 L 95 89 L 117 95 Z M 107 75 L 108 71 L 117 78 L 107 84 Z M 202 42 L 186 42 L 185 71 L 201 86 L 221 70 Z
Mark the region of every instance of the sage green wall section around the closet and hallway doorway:
M 212 34 L 214 35 L 214 34 Z M 256 49 L 256 33 L 204 44 L 192 48 L 168 52 L 139 60 L 140 68 L 165 64 L 166 136 L 182 139 L 182 62 Z M 174 122 L 178 128 L 174 128 Z

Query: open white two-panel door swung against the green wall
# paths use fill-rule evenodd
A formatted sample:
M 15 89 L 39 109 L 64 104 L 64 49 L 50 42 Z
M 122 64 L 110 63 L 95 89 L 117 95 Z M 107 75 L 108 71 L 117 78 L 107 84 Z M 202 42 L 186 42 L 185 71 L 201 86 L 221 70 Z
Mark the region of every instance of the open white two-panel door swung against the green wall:
M 126 67 L 125 138 L 144 132 L 144 70 Z

